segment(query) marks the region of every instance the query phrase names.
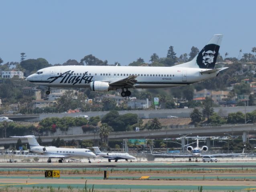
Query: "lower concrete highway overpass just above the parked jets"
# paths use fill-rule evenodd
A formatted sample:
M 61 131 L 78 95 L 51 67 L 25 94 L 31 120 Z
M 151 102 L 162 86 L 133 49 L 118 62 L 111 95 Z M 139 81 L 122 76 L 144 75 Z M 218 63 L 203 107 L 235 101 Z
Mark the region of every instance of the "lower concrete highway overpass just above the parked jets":
M 247 139 L 248 134 L 256 134 L 256 124 L 234 124 L 225 126 L 207 126 L 207 127 L 191 127 L 191 128 L 171 128 L 161 130 L 142 130 L 139 132 L 127 131 L 127 132 L 111 132 L 109 140 L 122 140 L 133 138 L 177 138 L 179 134 L 190 134 L 190 136 L 224 136 L 224 133 L 243 136 L 243 140 Z M 71 140 L 97 140 L 99 134 L 79 134 L 79 135 L 60 135 L 60 136 L 41 136 L 43 143 L 51 143 L 53 139 L 63 139 L 64 141 Z M 21 138 L 22 143 L 26 143 L 26 138 Z M 0 146 L 3 144 L 16 144 L 17 138 L 1 138 Z

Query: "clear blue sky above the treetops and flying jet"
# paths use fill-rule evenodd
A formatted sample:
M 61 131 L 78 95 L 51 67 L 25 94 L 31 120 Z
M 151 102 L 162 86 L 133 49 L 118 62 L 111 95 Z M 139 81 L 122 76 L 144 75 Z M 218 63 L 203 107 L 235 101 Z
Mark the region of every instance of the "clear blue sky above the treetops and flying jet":
M 45 58 L 78 62 L 93 54 L 128 65 L 169 46 L 179 57 L 223 34 L 220 54 L 238 57 L 256 46 L 256 1 L 238 0 L 6 0 L 0 2 L 0 57 L 4 63 Z

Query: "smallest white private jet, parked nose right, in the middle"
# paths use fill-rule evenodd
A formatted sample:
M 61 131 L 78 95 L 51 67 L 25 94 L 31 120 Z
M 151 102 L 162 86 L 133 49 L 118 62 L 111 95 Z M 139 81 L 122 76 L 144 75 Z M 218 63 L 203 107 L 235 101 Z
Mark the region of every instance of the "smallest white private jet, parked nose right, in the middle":
M 92 147 L 96 158 L 106 158 L 108 159 L 108 162 L 111 162 L 111 160 L 115 160 L 117 162 L 119 159 L 125 159 L 128 161 L 128 159 L 132 162 L 132 160 L 135 160 L 136 158 L 134 156 L 129 155 L 128 153 L 103 153 L 100 151 L 99 147 Z

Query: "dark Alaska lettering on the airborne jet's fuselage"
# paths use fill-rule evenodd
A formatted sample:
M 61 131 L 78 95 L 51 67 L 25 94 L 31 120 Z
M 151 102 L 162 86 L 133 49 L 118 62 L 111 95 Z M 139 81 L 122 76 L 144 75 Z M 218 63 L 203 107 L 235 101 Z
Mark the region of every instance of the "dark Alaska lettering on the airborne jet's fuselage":
M 61 83 L 71 83 L 73 85 L 75 84 L 81 84 L 82 82 L 84 84 L 89 84 L 90 82 L 92 82 L 92 78 L 93 76 L 87 76 L 87 72 L 84 72 L 83 75 L 76 75 L 74 71 L 71 72 L 71 70 L 64 72 L 63 74 L 59 75 L 59 76 L 54 76 L 54 77 L 50 77 L 48 79 L 53 79 L 51 80 L 49 83 L 55 82 L 57 79 L 61 78 L 61 81 L 59 82 Z

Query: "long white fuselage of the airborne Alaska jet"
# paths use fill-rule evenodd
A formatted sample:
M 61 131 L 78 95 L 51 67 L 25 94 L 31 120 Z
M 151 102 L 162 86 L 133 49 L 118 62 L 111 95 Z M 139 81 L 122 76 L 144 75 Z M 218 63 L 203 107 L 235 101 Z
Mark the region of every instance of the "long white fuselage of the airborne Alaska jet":
M 201 73 L 207 69 L 186 67 L 141 66 L 53 66 L 43 68 L 26 79 L 49 87 L 89 87 L 92 81 L 113 82 L 136 77 L 135 88 L 167 88 L 200 82 L 217 73 Z

